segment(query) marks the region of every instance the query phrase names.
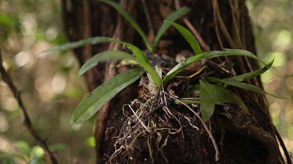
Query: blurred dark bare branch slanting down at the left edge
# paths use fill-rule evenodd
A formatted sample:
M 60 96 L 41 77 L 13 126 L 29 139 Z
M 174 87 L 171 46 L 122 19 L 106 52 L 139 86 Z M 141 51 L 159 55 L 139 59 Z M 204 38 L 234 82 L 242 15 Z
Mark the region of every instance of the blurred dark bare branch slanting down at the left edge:
M 14 86 L 9 74 L 5 71 L 5 69 L 3 68 L 2 65 L 2 56 L 1 56 L 1 49 L 0 49 L 0 73 L 2 75 L 2 79 L 3 81 L 8 85 L 8 87 L 10 88 L 12 94 L 14 95 L 15 99 L 18 102 L 19 105 L 19 111 L 20 111 L 20 115 L 23 119 L 23 125 L 26 128 L 26 130 L 29 132 L 29 134 L 31 134 L 31 136 L 34 138 L 35 142 L 37 142 L 37 144 L 39 146 L 41 146 L 41 148 L 44 149 L 45 152 L 45 157 L 47 159 L 47 161 L 49 163 L 55 164 L 57 163 L 56 158 L 54 157 L 54 155 L 52 154 L 52 152 L 49 150 L 46 142 L 44 140 L 42 140 L 40 138 L 40 136 L 37 134 L 37 132 L 33 129 L 31 121 L 29 119 L 29 116 L 26 112 L 26 109 L 23 105 L 23 102 L 20 98 L 20 92 L 17 90 L 17 88 Z

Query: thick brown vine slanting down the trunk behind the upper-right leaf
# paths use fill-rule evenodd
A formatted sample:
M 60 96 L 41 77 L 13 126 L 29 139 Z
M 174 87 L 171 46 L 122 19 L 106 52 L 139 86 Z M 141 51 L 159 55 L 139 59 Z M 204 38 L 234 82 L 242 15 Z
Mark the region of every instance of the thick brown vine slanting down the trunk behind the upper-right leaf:
M 180 8 L 179 0 L 175 0 L 174 4 L 175 4 L 176 10 L 178 10 Z M 189 28 L 189 30 L 191 30 L 191 32 L 193 33 L 195 38 L 198 40 L 198 43 L 201 45 L 201 47 L 205 51 L 210 51 L 210 46 L 208 46 L 206 44 L 206 42 L 204 42 L 204 39 L 202 39 L 201 35 L 198 33 L 198 31 L 193 27 L 193 25 L 190 23 L 190 21 L 186 17 L 183 18 L 183 22 L 186 24 L 186 26 Z

